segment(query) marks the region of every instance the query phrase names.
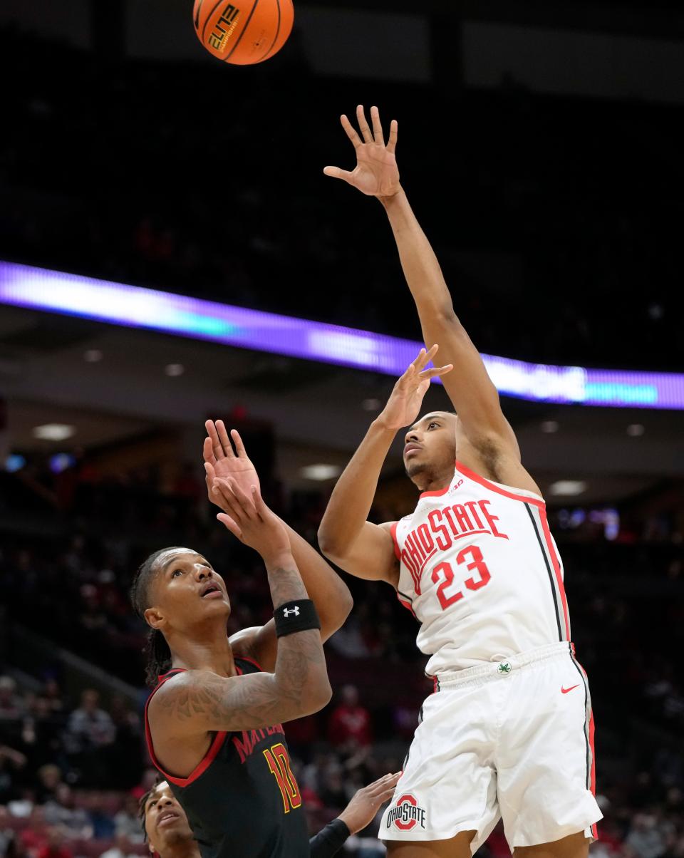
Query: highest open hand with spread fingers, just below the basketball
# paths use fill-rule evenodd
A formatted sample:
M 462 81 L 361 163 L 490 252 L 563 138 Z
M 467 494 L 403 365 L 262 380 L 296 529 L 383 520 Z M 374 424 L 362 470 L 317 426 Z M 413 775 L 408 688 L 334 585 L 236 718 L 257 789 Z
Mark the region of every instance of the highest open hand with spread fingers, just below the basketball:
M 361 137 L 349 122 L 342 116 L 342 128 L 356 149 L 356 166 L 354 170 L 342 170 L 339 166 L 326 166 L 324 173 L 332 178 L 343 178 L 348 184 L 354 185 L 367 196 L 394 196 L 399 190 L 399 168 L 396 166 L 396 136 L 398 126 L 396 119 L 390 123 L 390 139 L 385 144 L 383 127 L 377 107 L 371 107 L 372 132 L 366 122 L 366 112 L 362 105 L 356 108 L 356 118 L 359 121 Z

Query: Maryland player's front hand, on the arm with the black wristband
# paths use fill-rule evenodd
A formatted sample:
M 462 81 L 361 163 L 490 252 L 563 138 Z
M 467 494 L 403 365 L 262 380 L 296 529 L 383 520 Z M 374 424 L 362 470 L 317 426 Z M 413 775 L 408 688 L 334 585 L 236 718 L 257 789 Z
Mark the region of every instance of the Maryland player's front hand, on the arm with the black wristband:
M 231 477 L 216 477 L 214 486 L 221 494 L 221 509 L 226 510 L 216 518 L 240 542 L 260 553 L 264 560 L 289 552 L 288 531 L 263 502 L 257 486 L 250 486 L 247 493 Z

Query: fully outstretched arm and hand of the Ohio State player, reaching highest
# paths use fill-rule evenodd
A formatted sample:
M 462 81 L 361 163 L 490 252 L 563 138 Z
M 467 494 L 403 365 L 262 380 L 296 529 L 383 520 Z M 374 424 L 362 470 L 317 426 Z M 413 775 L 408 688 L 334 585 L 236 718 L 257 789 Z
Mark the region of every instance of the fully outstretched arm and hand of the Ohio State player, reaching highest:
M 328 166 L 324 172 L 344 179 L 367 196 L 377 196 L 382 202 L 396 239 L 403 273 L 418 309 L 423 340 L 439 342 L 440 359 L 453 364 L 453 372 L 445 378 L 445 390 L 457 410 L 466 438 L 476 450 L 503 448 L 519 461 L 518 444 L 499 406 L 499 394 L 480 354 L 458 320 L 437 257 L 399 183 L 395 157 L 396 120 L 390 124 L 390 136 L 385 145 L 377 107 L 371 108 L 372 130 L 362 106 L 357 108 L 357 119 L 361 136 L 348 118 L 342 117 L 342 127 L 356 150 L 354 171 Z

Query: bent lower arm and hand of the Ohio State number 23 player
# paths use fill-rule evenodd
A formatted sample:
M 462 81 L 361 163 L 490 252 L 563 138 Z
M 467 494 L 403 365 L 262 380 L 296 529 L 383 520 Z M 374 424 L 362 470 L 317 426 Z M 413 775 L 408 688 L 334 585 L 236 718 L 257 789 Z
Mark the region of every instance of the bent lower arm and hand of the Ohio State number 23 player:
M 394 554 L 390 523 L 367 521 L 378 479 L 396 432 L 415 420 L 430 379 L 451 366 L 426 369 L 437 346 L 423 348 L 392 390 L 381 414 L 366 432 L 330 495 L 318 529 L 318 544 L 326 557 L 360 578 L 387 581 L 396 587 L 399 566 Z

